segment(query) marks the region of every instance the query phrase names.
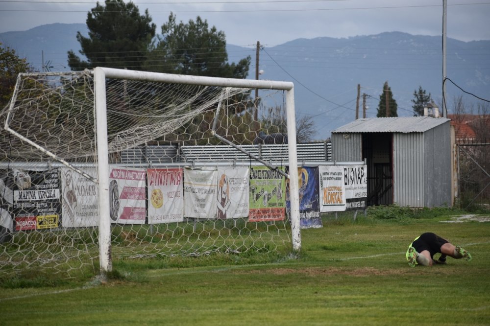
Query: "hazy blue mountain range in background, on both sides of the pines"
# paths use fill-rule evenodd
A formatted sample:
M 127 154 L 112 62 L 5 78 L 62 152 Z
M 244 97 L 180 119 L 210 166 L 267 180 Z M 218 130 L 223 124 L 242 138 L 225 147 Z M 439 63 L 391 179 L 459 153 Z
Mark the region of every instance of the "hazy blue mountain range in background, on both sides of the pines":
M 85 24 L 54 23 L 26 31 L 0 33 L 3 47 L 15 49 L 35 70 L 67 71 L 67 51 L 78 53 L 76 33 L 88 35 Z M 260 79 L 292 81 L 296 116 L 311 116 L 314 140 L 325 140 L 332 130 L 355 119 L 358 84 L 359 117 L 366 94 L 367 117 L 377 113 L 379 95 L 388 81 L 398 105 L 398 116 L 413 116 L 414 91 L 422 87 L 442 105 L 442 38 L 385 32 L 349 38 L 295 39 L 261 46 Z M 227 45 L 229 62 L 250 56 L 249 79 L 255 78 L 255 47 Z M 446 96 L 449 113 L 457 96 L 467 107 L 488 99 L 490 91 L 490 41 L 446 39 Z

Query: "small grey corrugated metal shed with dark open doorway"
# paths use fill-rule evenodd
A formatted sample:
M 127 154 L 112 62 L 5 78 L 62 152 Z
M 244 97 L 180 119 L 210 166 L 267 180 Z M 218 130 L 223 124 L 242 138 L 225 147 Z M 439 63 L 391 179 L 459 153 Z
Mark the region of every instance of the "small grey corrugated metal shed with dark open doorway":
M 364 118 L 332 132 L 332 160 L 368 165 L 368 205 L 453 205 L 450 119 Z

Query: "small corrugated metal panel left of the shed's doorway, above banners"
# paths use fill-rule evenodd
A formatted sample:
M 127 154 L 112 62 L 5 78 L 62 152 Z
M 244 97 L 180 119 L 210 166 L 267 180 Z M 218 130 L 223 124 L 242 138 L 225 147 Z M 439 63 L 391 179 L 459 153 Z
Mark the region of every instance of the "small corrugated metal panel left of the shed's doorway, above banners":
M 332 161 L 362 161 L 361 133 L 332 133 Z

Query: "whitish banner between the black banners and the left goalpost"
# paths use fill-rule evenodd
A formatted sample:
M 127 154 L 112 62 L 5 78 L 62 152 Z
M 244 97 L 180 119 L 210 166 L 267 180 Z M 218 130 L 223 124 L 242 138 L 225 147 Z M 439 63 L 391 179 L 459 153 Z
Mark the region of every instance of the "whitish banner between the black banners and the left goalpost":
M 95 167 L 81 170 L 97 178 Z M 98 185 L 68 167 L 61 167 L 60 173 L 63 227 L 98 226 Z

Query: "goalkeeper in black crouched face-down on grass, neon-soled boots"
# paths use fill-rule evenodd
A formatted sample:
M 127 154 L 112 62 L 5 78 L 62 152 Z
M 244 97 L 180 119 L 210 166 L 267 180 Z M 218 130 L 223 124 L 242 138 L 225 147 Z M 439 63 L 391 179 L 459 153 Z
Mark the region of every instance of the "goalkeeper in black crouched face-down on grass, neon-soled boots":
M 434 255 L 441 254 L 438 260 L 434 259 Z M 410 244 L 407 250 L 407 260 L 411 267 L 417 264 L 423 266 L 432 266 L 433 264 L 445 264 L 446 256 L 456 259 L 465 258 L 471 260 L 471 255 L 460 246 L 454 246 L 439 235 L 426 232 L 417 236 Z

